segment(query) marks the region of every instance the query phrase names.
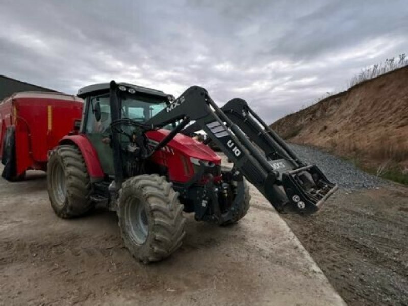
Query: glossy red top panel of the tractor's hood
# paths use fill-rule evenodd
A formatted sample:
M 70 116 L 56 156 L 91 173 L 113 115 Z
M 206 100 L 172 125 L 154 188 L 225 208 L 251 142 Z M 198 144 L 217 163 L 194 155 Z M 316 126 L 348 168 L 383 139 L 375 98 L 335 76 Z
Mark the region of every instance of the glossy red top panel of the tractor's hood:
M 169 130 L 160 129 L 156 131 L 149 131 L 146 133 L 147 137 L 154 141 L 161 141 L 170 133 Z M 185 156 L 194 157 L 200 160 L 211 161 L 216 164 L 221 162 L 221 157 L 217 155 L 211 148 L 200 143 L 199 141 L 183 134 L 177 134 L 167 146 L 173 150 L 177 150 Z

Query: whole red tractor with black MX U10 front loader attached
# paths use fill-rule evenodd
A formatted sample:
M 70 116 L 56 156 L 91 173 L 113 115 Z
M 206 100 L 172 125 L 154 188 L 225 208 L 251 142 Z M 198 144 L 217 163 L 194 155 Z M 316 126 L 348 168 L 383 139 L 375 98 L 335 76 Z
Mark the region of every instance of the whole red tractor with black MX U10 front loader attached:
M 79 90 L 77 135 L 50 154 L 48 193 L 56 214 L 78 217 L 95 203 L 117 212 L 126 247 L 149 263 L 182 244 L 183 211 L 228 225 L 249 208 L 247 179 L 278 212 L 310 214 L 336 190 L 305 165 L 241 99 L 220 109 L 198 86 L 179 98 L 114 81 Z M 203 130 L 208 141 L 190 137 Z M 213 141 L 233 162 L 208 146 Z

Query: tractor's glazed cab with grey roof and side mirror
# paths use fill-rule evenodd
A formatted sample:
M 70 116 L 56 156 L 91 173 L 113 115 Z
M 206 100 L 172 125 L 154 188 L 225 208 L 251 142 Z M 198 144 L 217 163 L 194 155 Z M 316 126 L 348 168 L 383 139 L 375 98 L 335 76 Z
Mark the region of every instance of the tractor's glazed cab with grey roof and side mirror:
M 112 122 L 129 119 L 143 124 L 163 108 L 172 96 L 163 91 L 127 83 L 118 83 L 116 98 L 111 97 L 109 83 L 81 88 L 78 96 L 84 99 L 84 111 L 80 132 L 90 140 L 107 176 L 114 177 L 114 154 L 112 150 Z M 114 105 L 111 105 L 113 103 Z M 113 110 L 113 111 L 112 111 Z M 166 126 L 171 129 L 171 125 Z M 135 127 L 119 124 L 120 146 L 125 148 L 136 135 Z

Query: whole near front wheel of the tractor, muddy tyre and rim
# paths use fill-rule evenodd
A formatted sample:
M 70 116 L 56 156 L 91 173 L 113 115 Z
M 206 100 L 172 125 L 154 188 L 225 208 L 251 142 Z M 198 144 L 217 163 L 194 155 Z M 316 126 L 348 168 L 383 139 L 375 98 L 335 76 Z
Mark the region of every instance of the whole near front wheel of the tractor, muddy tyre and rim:
M 117 212 L 126 248 L 144 264 L 160 261 L 182 245 L 183 206 L 164 176 L 139 175 L 127 180 Z

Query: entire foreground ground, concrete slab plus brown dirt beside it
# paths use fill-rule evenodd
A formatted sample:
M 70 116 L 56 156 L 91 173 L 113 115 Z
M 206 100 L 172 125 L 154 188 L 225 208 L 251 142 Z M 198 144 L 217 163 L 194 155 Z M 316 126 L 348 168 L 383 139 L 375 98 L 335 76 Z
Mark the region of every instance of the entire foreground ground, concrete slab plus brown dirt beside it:
M 148 266 L 124 248 L 115 213 L 58 218 L 44 174 L 0 180 L 0 192 L 0 305 L 341 305 L 326 277 L 349 305 L 408 305 L 400 185 L 341 188 L 313 216 L 285 215 L 306 250 L 252 187 L 239 224 L 189 216 L 182 248 Z

